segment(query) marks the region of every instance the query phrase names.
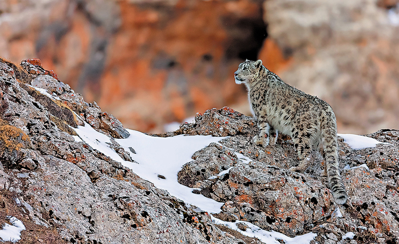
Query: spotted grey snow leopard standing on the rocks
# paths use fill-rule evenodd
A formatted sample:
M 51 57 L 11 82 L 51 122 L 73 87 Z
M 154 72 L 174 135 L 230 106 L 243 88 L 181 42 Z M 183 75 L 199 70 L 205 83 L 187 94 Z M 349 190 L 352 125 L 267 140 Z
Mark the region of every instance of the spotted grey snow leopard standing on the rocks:
M 307 158 L 318 149 L 325 161 L 322 176 L 337 204 L 348 199 L 338 163 L 337 122 L 331 106 L 286 83 L 262 65 L 262 60 L 246 60 L 234 72 L 235 83 L 245 84 L 251 112 L 257 120 L 256 145 L 274 145 L 278 132 L 289 135 L 298 153 L 299 165 L 290 171 L 304 173 Z

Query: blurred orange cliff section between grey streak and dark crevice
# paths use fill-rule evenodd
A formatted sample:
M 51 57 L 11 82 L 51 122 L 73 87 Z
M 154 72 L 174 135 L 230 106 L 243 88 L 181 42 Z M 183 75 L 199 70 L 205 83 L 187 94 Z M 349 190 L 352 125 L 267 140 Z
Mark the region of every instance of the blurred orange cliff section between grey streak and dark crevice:
M 239 60 L 226 59 L 232 34 L 223 18 L 259 18 L 259 4 L 180 1 L 160 10 L 121 1 L 120 9 L 100 83 L 104 110 L 134 128 L 160 131 L 165 122 L 245 97 L 231 76 Z

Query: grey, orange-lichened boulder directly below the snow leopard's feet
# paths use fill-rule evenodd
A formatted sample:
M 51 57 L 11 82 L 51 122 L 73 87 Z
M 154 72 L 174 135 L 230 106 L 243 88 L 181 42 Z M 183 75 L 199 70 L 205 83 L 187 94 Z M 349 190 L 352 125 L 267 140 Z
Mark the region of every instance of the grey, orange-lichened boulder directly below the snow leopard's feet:
M 247 141 L 241 143 L 245 145 Z M 234 146 L 236 151 L 237 145 Z M 202 195 L 216 201 L 232 201 L 234 204 L 225 211 L 240 220 L 290 236 L 303 233 L 305 225 L 331 215 L 334 201 L 320 181 L 261 161 L 241 162 L 231 151 L 210 144 L 193 155 L 195 161 L 183 167 L 179 182 L 200 188 Z M 211 179 L 227 169 L 230 170 L 223 178 Z

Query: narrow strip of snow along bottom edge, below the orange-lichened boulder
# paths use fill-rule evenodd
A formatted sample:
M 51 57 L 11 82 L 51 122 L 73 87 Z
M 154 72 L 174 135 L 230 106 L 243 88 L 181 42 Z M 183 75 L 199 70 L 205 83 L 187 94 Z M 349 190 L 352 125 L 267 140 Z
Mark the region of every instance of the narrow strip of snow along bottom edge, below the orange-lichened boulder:
M 315 237 L 317 237 L 317 234 L 315 233 L 307 233 L 302 236 L 296 236 L 294 238 L 287 237 L 284 234 L 278 233 L 278 232 L 268 232 L 265 230 L 260 229 L 259 227 L 245 221 L 236 221 L 234 223 L 232 222 L 226 222 L 219 220 L 213 216 L 210 216 L 212 219 L 212 222 L 216 225 L 223 225 L 228 227 L 231 230 L 237 231 L 241 233 L 244 236 L 247 237 L 254 237 L 259 239 L 261 242 L 266 243 L 266 244 L 280 244 L 276 239 L 278 240 L 283 240 L 285 244 L 309 244 L 310 241 L 312 241 Z M 241 231 L 238 229 L 238 227 L 235 225 L 236 223 L 243 223 L 248 226 L 248 228 L 245 231 Z

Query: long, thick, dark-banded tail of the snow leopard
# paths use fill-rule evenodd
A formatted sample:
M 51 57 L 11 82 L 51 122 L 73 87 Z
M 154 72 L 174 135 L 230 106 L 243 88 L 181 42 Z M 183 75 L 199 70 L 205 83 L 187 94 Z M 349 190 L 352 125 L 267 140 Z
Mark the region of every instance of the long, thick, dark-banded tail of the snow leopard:
M 344 204 L 348 199 L 348 195 L 339 171 L 337 122 L 330 106 L 322 112 L 321 137 L 329 188 L 333 194 L 334 201 L 337 204 Z

